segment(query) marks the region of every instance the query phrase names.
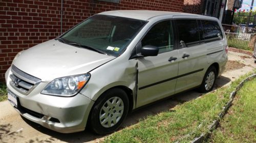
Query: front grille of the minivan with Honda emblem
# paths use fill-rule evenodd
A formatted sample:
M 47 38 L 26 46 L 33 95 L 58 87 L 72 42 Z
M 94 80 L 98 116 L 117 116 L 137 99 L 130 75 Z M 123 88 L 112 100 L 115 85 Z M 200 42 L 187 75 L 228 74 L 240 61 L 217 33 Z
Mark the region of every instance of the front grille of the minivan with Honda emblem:
M 14 65 L 12 65 L 11 71 L 11 86 L 24 95 L 28 95 L 41 82 L 41 79 L 19 70 Z

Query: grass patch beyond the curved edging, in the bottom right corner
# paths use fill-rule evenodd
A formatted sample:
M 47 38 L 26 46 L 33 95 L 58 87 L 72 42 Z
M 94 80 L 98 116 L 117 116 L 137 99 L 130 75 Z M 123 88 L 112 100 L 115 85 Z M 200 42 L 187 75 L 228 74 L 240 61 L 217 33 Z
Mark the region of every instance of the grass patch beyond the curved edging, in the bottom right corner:
M 209 142 L 256 142 L 256 78 L 237 93 Z

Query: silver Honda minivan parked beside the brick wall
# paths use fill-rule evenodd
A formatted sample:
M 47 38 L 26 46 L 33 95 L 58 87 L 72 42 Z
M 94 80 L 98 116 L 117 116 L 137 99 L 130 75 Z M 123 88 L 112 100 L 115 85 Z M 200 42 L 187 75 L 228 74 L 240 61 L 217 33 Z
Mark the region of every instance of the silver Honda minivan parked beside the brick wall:
M 185 90 L 209 92 L 227 62 L 217 18 L 140 10 L 96 14 L 56 39 L 19 52 L 8 100 L 57 132 L 109 134 L 127 113 Z

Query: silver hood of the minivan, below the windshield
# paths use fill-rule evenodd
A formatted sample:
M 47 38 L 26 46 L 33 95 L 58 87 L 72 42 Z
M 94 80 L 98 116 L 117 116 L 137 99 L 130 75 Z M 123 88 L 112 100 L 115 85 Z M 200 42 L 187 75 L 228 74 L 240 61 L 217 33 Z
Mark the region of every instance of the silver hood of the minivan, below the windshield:
M 114 56 L 53 39 L 19 53 L 13 65 L 42 81 L 52 81 L 63 76 L 88 73 L 113 59 Z

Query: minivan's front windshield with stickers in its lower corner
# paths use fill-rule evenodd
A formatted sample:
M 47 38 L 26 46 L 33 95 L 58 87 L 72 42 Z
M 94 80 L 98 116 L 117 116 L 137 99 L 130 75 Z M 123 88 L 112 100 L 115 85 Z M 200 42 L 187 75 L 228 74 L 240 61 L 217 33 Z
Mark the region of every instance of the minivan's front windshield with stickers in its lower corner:
M 143 20 L 95 15 L 61 37 L 68 44 L 120 55 L 145 24 Z

